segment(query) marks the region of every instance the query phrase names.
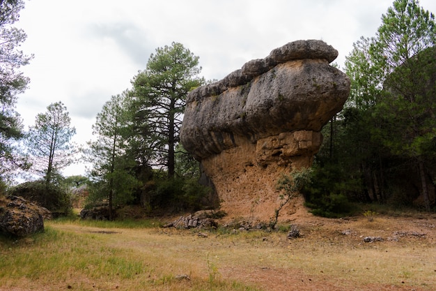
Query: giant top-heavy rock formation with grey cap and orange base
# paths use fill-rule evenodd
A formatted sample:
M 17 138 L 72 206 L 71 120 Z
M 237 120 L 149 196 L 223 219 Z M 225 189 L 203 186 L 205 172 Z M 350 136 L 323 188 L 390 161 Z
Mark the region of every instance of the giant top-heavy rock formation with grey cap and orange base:
M 281 173 L 311 165 L 322 126 L 350 92 L 348 77 L 329 66 L 337 54 L 321 40 L 298 40 L 189 93 L 181 142 L 229 216 L 272 217 Z

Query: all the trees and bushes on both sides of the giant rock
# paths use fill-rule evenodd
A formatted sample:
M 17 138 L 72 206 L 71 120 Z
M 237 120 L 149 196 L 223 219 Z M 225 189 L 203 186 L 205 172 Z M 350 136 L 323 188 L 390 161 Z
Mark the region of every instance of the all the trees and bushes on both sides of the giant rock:
M 93 125 L 97 138 L 79 146 L 61 101 L 29 130 L 22 126 L 15 104 L 29 78 L 20 67 L 32 56 L 19 50 L 26 34 L 14 24 L 24 1 L 0 5 L 2 192 L 40 189 L 41 204 L 67 213 L 72 190 L 86 185 L 88 207 L 107 202 L 111 219 L 126 204 L 148 213 L 219 206 L 213 191 L 198 184 L 198 162 L 178 142 L 187 93 L 213 82 L 200 76 L 198 56 L 181 43 L 158 47 L 132 87 L 104 104 Z M 343 68 L 350 97 L 323 128 L 312 183 L 302 190 L 314 214 L 343 216 L 356 202 L 435 211 L 435 40 L 433 13 L 419 1 L 396 0 L 375 36 L 354 43 Z M 77 158 L 92 165 L 87 176 L 63 177 Z M 13 187 L 18 173 L 39 179 Z

